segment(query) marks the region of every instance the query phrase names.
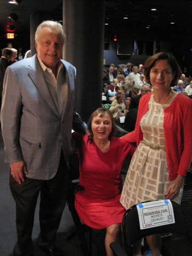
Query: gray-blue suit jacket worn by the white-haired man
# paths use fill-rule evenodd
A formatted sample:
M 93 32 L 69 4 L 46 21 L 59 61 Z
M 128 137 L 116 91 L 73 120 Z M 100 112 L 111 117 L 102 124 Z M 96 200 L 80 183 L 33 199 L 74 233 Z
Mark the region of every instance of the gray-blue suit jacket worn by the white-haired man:
M 37 55 L 9 66 L 3 84 L 1 110 L 5 161 L 24 160 L 28 175 L 34 179 L 49 180 L 55 176 L 61 156 L 61 147 L 69 166 L 74 152 L 71 137 L 74 131 L 86 132 L 86 124 L 74 108 L 74 81 L 76 69 L 61 60 L 66 69 L 68 97 L 62 115 L 44 79 Z

